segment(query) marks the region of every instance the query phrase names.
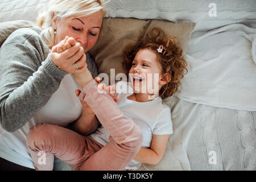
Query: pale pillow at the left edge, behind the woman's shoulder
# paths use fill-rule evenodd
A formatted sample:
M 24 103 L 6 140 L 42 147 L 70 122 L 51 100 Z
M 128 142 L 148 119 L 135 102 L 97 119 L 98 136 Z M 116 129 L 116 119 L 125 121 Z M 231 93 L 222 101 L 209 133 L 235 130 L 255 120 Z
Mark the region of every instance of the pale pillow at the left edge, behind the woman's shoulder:
M 19 28 L 27 28 L 34 27 L 35 24 L 28 20 L 15 20 L 10 22 L 2 22 L 0 23 L 0 47 L 3 42 L 13 33 L 15 30 Z

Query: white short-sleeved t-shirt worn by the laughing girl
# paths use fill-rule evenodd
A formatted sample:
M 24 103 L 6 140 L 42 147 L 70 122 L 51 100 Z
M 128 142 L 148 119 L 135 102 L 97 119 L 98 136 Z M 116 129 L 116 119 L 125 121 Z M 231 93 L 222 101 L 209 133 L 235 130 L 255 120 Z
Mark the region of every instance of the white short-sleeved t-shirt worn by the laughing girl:
M 127 97 L 133 94 L 133 92 L 123 93 L 124 90 L 133 90 L 129 82 L 120 81 L 115 87 L 119 93 L 119 101 L 117 102 L 119 109 L 122 110 L 123 115 L 141 126 L 143 135 L 142 147 L 150 147 L 152 134 L 172 134 L 171 111 L 170 108 L 163 103 L 161 97 L 156 97 L 154 100 L 148 102 L 132 101 L 127 99 Z M 90 136 L 105 146 L 109 142 L 110 133 L 101 126 Z M 140 166 L 140 162 L 132 160 L 126 169 L 137 169 Z

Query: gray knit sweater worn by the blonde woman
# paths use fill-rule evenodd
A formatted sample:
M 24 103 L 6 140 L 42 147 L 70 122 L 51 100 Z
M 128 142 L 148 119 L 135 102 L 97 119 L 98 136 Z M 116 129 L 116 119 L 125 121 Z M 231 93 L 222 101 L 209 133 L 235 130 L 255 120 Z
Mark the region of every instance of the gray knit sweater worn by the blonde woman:
M 0 123 L 9 132 L 24 126 L 68 74 L 53 64 L 39 34 L 40 28 L 21 28 L 0 48 Z M 95 77 L 96 63 L 86 56 L 88 69 Z

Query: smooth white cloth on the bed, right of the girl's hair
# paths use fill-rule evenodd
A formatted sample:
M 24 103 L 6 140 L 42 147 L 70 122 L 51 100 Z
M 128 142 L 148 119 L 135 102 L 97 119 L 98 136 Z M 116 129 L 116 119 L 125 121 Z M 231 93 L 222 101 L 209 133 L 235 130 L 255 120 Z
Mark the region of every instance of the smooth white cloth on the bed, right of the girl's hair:
M 201 33 L 189 42 L 188 74 L 181 100 L 256 110 L 256 29 L 235 23 Z

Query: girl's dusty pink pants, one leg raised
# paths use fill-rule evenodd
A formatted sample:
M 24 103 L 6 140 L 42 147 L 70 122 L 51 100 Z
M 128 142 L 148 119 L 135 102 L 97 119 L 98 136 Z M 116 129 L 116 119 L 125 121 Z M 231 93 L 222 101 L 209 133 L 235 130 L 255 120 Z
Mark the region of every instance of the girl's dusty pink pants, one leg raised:
M 54 156 L 73 170 L 123 170 L 141 148 L 141 127 L 125 117 L 108 94 L 97 92 L 97 82 L 89 82 L 83 90 L 80 98 L 113 139 L 102 146 L 89 136 L 60 126 L 34 126 L 27 135 L 27 146 L 36 170 L 52 170 Z

